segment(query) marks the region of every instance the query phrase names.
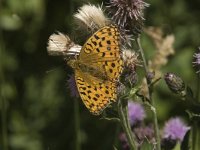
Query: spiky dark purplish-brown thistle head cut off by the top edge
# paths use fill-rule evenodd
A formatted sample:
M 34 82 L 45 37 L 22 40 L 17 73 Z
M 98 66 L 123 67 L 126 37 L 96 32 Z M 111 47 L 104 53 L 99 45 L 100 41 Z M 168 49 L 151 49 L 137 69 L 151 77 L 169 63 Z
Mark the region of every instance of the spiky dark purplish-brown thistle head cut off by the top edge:
M 148 6 L 143 0 L 110 0 L 107 7 L 116 24 L 129 33 L 138 34 L 145 20 L 144 9 Z

